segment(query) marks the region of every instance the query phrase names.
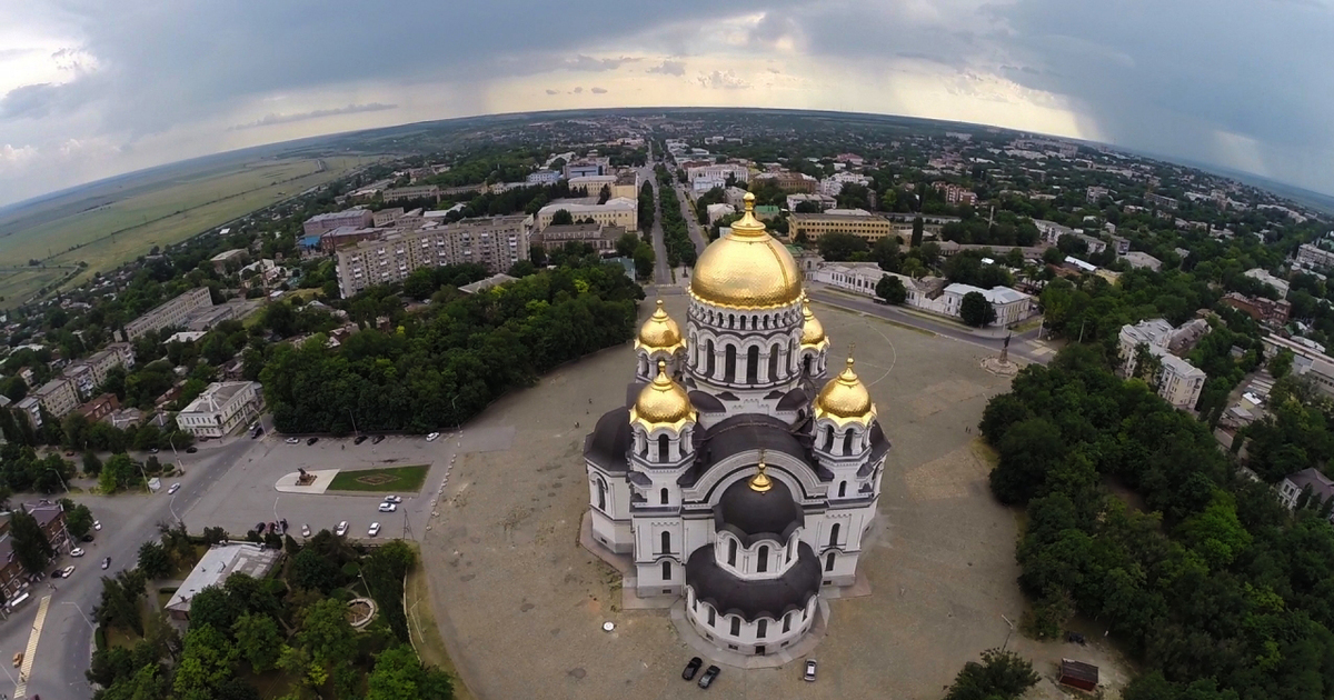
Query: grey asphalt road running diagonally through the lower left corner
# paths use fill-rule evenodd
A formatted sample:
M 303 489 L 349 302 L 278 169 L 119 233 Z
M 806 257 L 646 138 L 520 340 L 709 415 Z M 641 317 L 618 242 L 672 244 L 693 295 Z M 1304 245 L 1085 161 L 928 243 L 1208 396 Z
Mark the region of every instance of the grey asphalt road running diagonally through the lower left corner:
M 196 455 L 180 455 L 184 457 L 185 475 L 177 479 L 181 488 L 172 496 L 164 488 L 152 495 L 72 497 L 76 503 L 88 505 L 103 528 L 93 533 L 93 543 L 83 545 L 87 556 L 72 559 L 63 555 L 57 559 L 60 565 L 75 565 L 72 577 L 33 584 L 29 588 L 31 599 L 8 620 L 0 621 L 0 651 L 8 660 L 15 652 L 28 648 L 41 599 L 51 596 L 35 653 L 31 655 L 28 683 L 21 688 L 24 695 L 9 692 L 9 688 L 0 692 L 15 699 L 35 695 L 52 699 L 92 696 L 83 672 L 91 657 L 91 617 L 101 599 L 101 577 L 133 568 L 139 560 L 139 545 L 157 539 L 157 524 L 173 521 L 172 509 L 180 513 L 200 500 L 231 469 L 237 456 L 251 447 L 248 443 L 249 440 L 205 443 Z M 17 500 L 16 497 L 15 501 Z M 107 556 L 111 557 L 111 568 L 101 571 L 101 560 Z M 48 583 L 55 588 L 48 588 Z M 8 665 L 5 669 L 11 673 L 7 683 L 19 680 L 17 669 Z

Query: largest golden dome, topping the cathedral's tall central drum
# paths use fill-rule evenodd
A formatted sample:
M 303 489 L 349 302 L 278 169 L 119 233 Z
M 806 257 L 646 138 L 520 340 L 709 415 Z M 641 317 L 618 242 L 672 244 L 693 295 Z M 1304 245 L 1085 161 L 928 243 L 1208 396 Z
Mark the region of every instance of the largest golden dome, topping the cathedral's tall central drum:
M 704 248 L 691 273 L 695 299 L 728 308 L 770 308 L 802 296 L 802 272 L 792 253 L 755 219 L 755 195 L 746 193 L 746 215 L 732 232 Z

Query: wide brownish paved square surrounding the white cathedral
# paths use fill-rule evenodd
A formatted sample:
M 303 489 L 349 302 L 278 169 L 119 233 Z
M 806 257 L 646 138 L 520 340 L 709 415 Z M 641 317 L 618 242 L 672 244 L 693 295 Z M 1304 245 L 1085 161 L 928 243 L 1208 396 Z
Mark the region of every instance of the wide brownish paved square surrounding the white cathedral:
M 682 323 L 684 307 L 682 296 L 667 299 Z M 1018 528 L 990 496 L 975 429 L 987 399 L 1009 384 L 980 369 L 988 351 L 832 307 L 815 312 L 834 343 L 831 367 L 855 343 L 858 373 L 894 443 L 882 532 L 862 563 L 872 595 L 830 601 L 828 636 L 812 655 L 818 683 L 799 680 L 799 663 L 724 668 L 715 692 L 935 699 L 963 663 L 1002 644 L 1043 676 L 1062 655 L 1102 661 L 1093 647 L 1010 635 L 1025 605 Z M 700 692 L 680 680 L 694 653 L 668 611 L 622 611 L 619 575 L 578 544 L 588 500 L 583 437 L 622 405 L 632 372 L 630 344 L 604 351 L 502 399 L 464 429 L 464 441 L 475 431 L 514 431 L 508 449 L 459 456 L 423 539 L 442 635 L 479 697 Z M 1045 680 L 1034 696 L 1055 692 Z

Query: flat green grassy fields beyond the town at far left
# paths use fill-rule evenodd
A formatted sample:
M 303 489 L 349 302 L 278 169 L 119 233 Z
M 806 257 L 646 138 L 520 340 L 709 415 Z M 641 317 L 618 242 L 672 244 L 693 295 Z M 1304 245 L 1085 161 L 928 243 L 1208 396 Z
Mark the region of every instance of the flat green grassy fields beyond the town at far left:
M 21 304 L 80 261 L 88 263 L 88 269 L 68 284 L 113 269 L 153 245 L 179 243 L 328 183 L 372 160 L 264 157 L 181 167 L 151 183 L 99 185 L 85 196 L 71 195 L 64 207 L 43 203 L 7 212 L 0 216 L 0 305 Z M 41 260 L 45 268 L 25 267 L 29 260 Z

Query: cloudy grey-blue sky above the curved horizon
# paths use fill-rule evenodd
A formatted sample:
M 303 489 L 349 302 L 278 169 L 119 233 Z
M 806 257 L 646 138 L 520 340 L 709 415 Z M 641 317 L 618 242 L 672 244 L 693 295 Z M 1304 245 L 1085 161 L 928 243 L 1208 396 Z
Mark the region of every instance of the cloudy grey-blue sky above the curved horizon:
M 0 204 L 301 136 L 648 105 L 996 124 L 1334 193 L 1331 3 L 5 1 Z

